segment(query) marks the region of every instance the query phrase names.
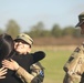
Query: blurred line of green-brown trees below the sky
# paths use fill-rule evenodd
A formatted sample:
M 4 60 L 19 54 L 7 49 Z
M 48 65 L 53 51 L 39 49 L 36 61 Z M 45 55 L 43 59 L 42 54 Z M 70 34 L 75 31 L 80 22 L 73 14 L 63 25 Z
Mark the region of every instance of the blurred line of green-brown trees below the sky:
M 20 32 L 21 28 L 14 20 L 9 20 L 9 22 L 6 25 L 6 30 L 0 29 L 0 33 L 9 33 L 13 38 L 15 38 Z M 62 37 L 73 37 L 73 38 L 81 38 L 78 28 L 76 29 L 73 25 L 69 25 L 65 28 L 61 28 L 59 24 L 54 24 L 51 30 L 48 30 L 43 22 L 39 22 L 35 25 L 32 25 L 29 31 L 24 31 L 24 33 L 28 33 L 32 38 L 62 38 Z

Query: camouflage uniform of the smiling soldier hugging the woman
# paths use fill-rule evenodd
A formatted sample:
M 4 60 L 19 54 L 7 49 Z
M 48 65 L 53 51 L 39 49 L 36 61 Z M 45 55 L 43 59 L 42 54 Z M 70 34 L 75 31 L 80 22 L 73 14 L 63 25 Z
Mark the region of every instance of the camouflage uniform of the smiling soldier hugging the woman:
M 32 80 L 28 72 L 23 68 L 19 68 L 17 75 L 23 81 L 23 83 L 43 83 L 44 80 L 44 68 L 40 62 L 31 65 L 31 74 L 34 76 Z

